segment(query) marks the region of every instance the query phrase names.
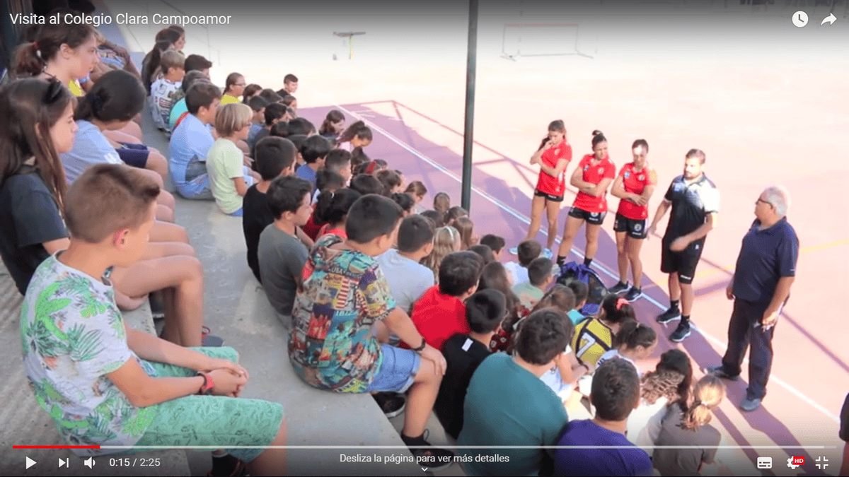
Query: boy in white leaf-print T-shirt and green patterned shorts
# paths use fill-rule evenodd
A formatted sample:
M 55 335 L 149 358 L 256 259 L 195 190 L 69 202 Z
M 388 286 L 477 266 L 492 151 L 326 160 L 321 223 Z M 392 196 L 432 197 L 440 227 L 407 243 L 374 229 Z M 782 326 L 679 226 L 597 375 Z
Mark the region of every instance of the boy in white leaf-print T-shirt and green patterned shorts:
M 159 187 L 132 167 L 91 166 L 65 195 L 67 250 L 37 268 L 20 317 L 32 390 L 71 445 L 220 446 L 211 475 L 283 474 L 283 407 L 236 399 L 235 350 L 183 348 L 127 328 L 109 281 L 138 261 Z M 192 432 L 178 432 L 178 429 Z M 108 450 L 75 450 L 100 455 Z M 132 451 L 131 451 L 132 452 Z

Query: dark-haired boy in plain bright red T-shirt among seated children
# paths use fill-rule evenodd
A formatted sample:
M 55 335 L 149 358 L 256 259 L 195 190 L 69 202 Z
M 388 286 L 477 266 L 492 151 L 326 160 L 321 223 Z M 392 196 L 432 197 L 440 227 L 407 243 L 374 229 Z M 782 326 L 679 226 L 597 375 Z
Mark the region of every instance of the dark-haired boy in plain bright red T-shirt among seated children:
M 464 300 L 477 290 L 482 271 L 483 259 L 475 252 L 454 252 L 442 259 L 439 284 L 413 304 L 413 324 L 428 345 L 441 351 L 454 334 L 469 334 Z

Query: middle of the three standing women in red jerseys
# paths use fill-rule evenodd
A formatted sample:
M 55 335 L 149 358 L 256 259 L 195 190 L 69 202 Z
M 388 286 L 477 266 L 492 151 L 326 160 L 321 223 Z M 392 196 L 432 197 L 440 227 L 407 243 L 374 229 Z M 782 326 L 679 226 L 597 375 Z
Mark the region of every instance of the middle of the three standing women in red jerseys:
M 599 130 L 593 131 L 593 154 L 583 156 L 572 173 L 571 185 L 578 189 L 578 195 L 566 216 L 563 241 L 557 254 L 557 264 L 563 265 L 566 255 L 572 248 L 572 241 L 587 222 L 587 250 L 584 250 L 584 265 L 593 263 L 595 252 L 599 250 L 599 231 L 607 215 L 607 188 L 616 176 L 616 166 L 607 155 L 607 138 Z

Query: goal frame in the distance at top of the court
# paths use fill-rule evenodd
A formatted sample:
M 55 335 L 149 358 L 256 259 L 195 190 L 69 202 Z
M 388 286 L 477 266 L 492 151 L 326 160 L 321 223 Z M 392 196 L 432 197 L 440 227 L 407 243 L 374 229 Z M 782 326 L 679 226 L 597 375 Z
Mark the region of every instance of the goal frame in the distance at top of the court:
M 501 54 L 508 59 L 566 55 L 593 58 L 578 48 L 579 32 L 576 23 L 505 23 Z

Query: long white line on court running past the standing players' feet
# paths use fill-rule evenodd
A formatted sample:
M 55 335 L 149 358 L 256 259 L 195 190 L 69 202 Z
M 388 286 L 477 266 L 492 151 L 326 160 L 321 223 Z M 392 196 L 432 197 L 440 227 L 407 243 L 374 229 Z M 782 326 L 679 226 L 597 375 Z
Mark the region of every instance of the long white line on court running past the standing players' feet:
M 457 176 L 456 176 L 456 175 L 455 175 L 452 171 L 447 170 L 447 168 L 446 168 L 446 167 L 441 166 L 440 164 L 437 164 L 434 160 L 431 160 L 429 157 L 426 157 L 424 154 L 422 154 L 422 153 L 420 153 L 419 151 L 417 151 L 417 150 L 413 149 L 413 148 L 412 148 L 411 146 L 409 146 L 407 143 L 402 142 L 402 140 L 401 140 L 401 139 L 398 139 L 397 137 L 393 136 L 390 132 L 387 132 L 387 131 L 386 131 L 385 129 L 383 129 L 382 127 L 380 127 L 380 126 L 378 126 L 378 125 L 374 124 L 374 122 L 369 121 L 367 118 L 363 118 L 362 116 L 357 115 L 357 114 L 356 114 L 356 113 L 354 113 L 354 112 L 351 112 L 349 109 L 346 109 L 346 108 L 344 108 L 344 107 L 340 106 L 339 104 L 334 104 L 334 107 L 335 107 L 335 108 L 337 108 L 337 109 L 341 109 L 342 111 L 345 111 L 347 114 L 349 114 L 349 115 L 351 115 L 351 116 L 356 117 L 356 118 L 357 118 L 358 120 L 360 120 L 360 121 L 365 122 L 365 123 L 366 123 L 369 127 L 371 127 L 374 131 L 380 132 L 380 134 L 382 134 L 383 136 L 385 136 L 386 138 L 388 138 L 389 140 L 391 140 L 393 143 L 396 143 L 397 145 L 401 146 L 403 149 L 406 149 L 409 153 L 414 154 L 414 155 L 415 155 L 416 157 L 418 157 L 420 160 L 424 160 L 424 162 L 428 163 L 430 166 L 435 167 L 438 171 L 443 172 L 445 175 L 447 175 L 448 177 L 451 177 L 453 180 L 455 180 L 455 181 L 457 181 L 457 182 L 460 182 L 460 183 L 462 183 L 462 182 L 463 182 L 463 180 L 462 180 L 460 177 L 457 177 Z M 521 214 L 520 212 L 518 212 L 518 211 L 514 210 L 512 207 L 510 207 L 509 205 L 504 204 L 504 203 L 503 203 L 503 202 L 501 202 L 500 200 L 498 200 L 498 199 L 496 199 L 496 198 L 492 197 L 492 195 L 486 194 L 486 192 L 482 191 L 482 190 L 481 190 L 481 188 L 477 188 L 474 184 L 472 184 L 471 189 L 472 189 L 472 191 L 474 191 L 475 193 L 480 194 L 480 195 L 481 195 L 481 197 L 483 197 L 484 199 L 489 200 L 490 202 L 492 202 L 492 204 L 497 205 L 497 206 L 498 206 L 501 210 L 504 210 L 505 212 L 509 213 L 511 216 L 514 216 L 516 219 L 518 219 L 518 220 L 520 220 L 521 222 L 525 223 L 526 225 L 530 225 L 530 224 L 531 224 L 531 220 L 530 220 L 529 218 L 527 218 L 525 215 L 523 215 L 523 214 Z M 547 233 L 547 230 L 544 230 L 543 228 L 541 228 L 541 229 L 540 229 L 540 233 L 545 234 L 545 233 Z M 559 244 L 560 239 L 556 239 L 556 242 Z M 582 254 L 582 252 L 581 252 L 581 251 L 579 251 L 579 250 L 577 250 L 575 247 L 572 247 L 571 251 L 572 251 L 573 253 L 575 253 L 576 255 L 580 255 L 582 258 L 583 258 L 583 256 L 584 256 L 584 255 Z M 616 278 L 616 279 L 618 279 L 618 275 L 616 275 L 616 273 L 614 273 L 614 272 L 610 271 L 610 269 L 609 269 L 608 267 L 604 266 L 604 263 L 601 263 L 600 261 L 596 261 L 595 263 L 597 264 L 597 268 L 598 268 L 599 270 L 601 270 L 602 272 L 604 272 L 604 274 L 605 274 L 605 275 L 607 275 L 607 276 L 608 276 L 608 277 L 610 277 L 610 278 Z M 661 305 L 661 302 L 660 302 L 660 301 L 657 301 L 657 300 L 655 300 L 654 298 L 652 298 L 652 297 L 650 297 L 650 296 L 648 296 L 648 295 L 643 295 L 643 299 L 644 299 L 644 300 L 646 300 L 646 301 L 648 301 L 648 302 L 649 302 L 649 303 L 651 303 L 652 305 L 656 306 L 656 307 L 657 307 L 659 310 L 661 310 L 661 311 L 665 311 L 665 310 L 666 310 L 666 306 Z M 700 328 L 696 327 L 695 325 L 693 326 L 693 328 L 694 328 L 697 332 L 699 332 L 702 336 L 704 336 L 704 337 L 706 338 L 706 340 L 708 340 L 708 341 L 710 341 L 711 343 L 713 343 L 714 345 L 716 345 L 716 346 L 717 346 L 717 348 L 722 349 L 723 351 L 726 349 L 726 346 L 722 343 L 722 341 L 721 341 L 721 340 L 717 340 L 717 338 L 715 338 L 715 337 L 711 336 L 711 334 L 707 334 L 706 332 L 702 331 Z M 745 363 L 747 363 L 747 362 L 749 362 L 749 360 L 748 360 L 748 359 L 745 359 L 745 360 L 744 360 L 744 364 L 745 364 Z M 770 377 L 770 379 L 772 379 L 772 380 L 773 380 L 776 384 L 779 384 L 779 385 L 780 385 L 781 387 L 783 387 L 785 390 L 790 391 L 790 393 L 791 393 L 792 395 L 794 395 L 794 396 L 798 397 L 799 399 L 801 399 L 801 401 L 805 401 L 805 402 L 807 402 L 807 404 L 809 404 L 811 407 L 813 407 L 813 408 L 817 409 L 819 412 L 822 412 L 822 413 L 823 413 L 826 417 L 828 417 L 829 419 L 831 419 L 831 420 L 832 420 L 832 421 L 834 421 L 835 423 L 840 423 L 840 422 L 841 422 L 841 421 L 840 421 L 840 418 L 838 418 L 837 416 L 835 416 L 835 414 L 832 414 L 831 412 L 829 412 L 829 410 L 828 410 L 828 409 L 826 409 L 826 408 L 825 408 L 825 407 L 823 407 L 822 405 L 818 404 L 818 402 L 817 402 L 817 401 L 813 401 L 810 397 L 805 396 L 805 395 L 804 395 L 804 394 L 803 394 L 800 390 L 796 390 L 796 388 L 795 388 L 795 387 L 793 387 L 791 384 L 789 384 L 789 383 L 787 383 L 786 381 L 784 381 L 784 379 L 780 379 L 780 378 L 779 378 L 779 376 L 778 376 L 777 374 L 775 374 L 775 373 L 771 373 L 769 377 Z

